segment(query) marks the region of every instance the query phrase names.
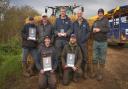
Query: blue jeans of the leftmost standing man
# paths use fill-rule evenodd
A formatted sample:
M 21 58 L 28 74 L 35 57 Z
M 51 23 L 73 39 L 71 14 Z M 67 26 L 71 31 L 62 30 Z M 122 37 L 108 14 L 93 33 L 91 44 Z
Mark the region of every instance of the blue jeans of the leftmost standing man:
M 34 59 L 34 62 L 36 64 L 36 67 L 38 68 L 38 66 L 39 66 L 39 52 L 38 52 L 38 49 L 37 48 L 22 48 L 22 51 L 23 51 L 22 63 L 27 64 L 28 54 L 31 54 L 33 59 Z

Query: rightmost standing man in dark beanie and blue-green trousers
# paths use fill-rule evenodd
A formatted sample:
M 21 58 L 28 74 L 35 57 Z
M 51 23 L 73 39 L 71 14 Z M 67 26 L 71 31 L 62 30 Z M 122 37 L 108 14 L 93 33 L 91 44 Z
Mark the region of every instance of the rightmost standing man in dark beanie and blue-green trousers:
M 107 55 L 107 33 L 109 32 L 109 21 L 104 16 L 104 10 L 98 10 L 98 18 L 93 24 L 93 78 L 103 79 L 103 70 Z

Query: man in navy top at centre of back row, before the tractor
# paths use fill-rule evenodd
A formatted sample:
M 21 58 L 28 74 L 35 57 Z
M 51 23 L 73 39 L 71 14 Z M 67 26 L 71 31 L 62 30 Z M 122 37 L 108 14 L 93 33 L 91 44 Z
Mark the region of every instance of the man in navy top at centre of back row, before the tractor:
M 59 77 L 62 77 L 62 68 L 61 68 L 61 52 L 64 48 L 64 46 L 68 42 L 68 38 L 70 34 L 72 33 L 71 29 L 71 21 L 69 17 L 66 15 L 66 9 L 62 7 L 60 9 L 60 16 L 56 19 L 55 23 L 55 47 L 57 50 L 57 57 L 59 59 L 59 65 L 58 65 L 58 71 L 59 71 Z

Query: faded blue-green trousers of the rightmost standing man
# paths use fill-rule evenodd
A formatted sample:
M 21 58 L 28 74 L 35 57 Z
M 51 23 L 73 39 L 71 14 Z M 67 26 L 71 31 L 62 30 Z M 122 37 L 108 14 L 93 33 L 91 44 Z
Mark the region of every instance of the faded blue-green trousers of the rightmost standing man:
M 93 43 L 93 64 L 105 64 L 107 55 L 107 42 L 94 41 Z

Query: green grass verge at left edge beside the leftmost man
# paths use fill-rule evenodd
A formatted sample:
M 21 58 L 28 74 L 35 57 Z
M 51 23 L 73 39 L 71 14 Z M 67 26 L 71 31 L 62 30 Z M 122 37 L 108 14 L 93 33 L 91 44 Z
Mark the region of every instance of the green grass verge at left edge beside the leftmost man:
M 0 89 L 10 87 L 21 75 L 21 48 L 0 44 Z M 9 89 L 9 88 L 8 88 Z

